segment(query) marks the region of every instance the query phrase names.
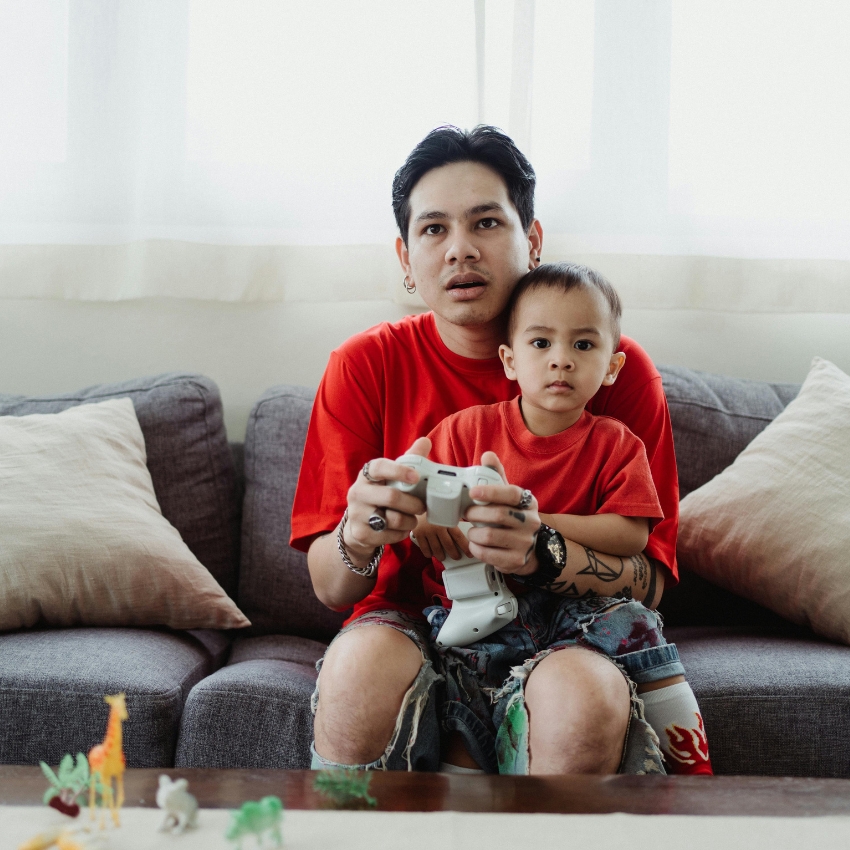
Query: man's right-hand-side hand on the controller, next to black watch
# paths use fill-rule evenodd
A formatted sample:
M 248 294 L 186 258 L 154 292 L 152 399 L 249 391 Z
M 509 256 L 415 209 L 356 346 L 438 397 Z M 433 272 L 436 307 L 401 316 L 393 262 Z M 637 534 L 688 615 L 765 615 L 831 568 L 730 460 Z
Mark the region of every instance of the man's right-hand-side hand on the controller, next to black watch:
M 495 469 L 506 480 L 505 468 L 495 452 L 484 452 L 481 465 Z M 537 569 L 534 544 L 540 528 L 537 499 L 531 506 L 518 508 L 522 487 L 516 484 L 488 484 L 473 487 L 469 494 L 487 505 L 467 508 L 464 519 L 486 523 L 487 527 L 470 528 L 468 532 L 471 553 L 499 572 L 513 575 L 530 575 Z

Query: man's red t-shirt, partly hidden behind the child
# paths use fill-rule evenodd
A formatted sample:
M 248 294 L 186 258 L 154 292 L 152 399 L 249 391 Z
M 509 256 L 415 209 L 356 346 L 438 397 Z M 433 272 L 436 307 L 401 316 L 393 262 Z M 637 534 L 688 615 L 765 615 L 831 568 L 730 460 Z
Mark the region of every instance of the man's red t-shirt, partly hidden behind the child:
M 658 374 L 646 352 L 623 337 L 626 363 L 588 410 L 624 422 L 643 441 L 665 519 L 646 551 L 676 576 L 679 485 L 673 432 Z M 440 339 L 433 313 L 406 316 L 356 334 L 331 353 L 313 404 L 301 475 L 292 507 L 292 538 L 306 552 L 332 531 L 346 506 L 348 488 L 363 464 L 396 458 L 458 410 L 518 395 L 498 357 L 472 360 Z M 353 616 L 378 608 L 419 615 L 431 603 L 422 586 L 428 564 L 408 540 L 387 547 L 372 592 Z M 675 578 L 674 578 L 675 580 Z

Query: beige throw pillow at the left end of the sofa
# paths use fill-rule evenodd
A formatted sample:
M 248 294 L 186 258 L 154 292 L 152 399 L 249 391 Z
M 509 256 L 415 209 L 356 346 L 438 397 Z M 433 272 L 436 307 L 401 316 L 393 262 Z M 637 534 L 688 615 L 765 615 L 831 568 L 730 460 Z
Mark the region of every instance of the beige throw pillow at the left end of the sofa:
M 250 623 L 160 511 L 128 398 L 0 416 L 0 629 Z

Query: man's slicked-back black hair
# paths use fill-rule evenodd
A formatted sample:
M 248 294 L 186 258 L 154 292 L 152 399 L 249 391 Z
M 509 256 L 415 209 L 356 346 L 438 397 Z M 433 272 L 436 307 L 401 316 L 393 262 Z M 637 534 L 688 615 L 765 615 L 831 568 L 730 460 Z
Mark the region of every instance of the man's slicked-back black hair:
M 461 130 L 447 124 L 428 133 L 393 178 L 393 213 L 405 245 L 413 187 L 432 168 L 453 162 L 479 162 L 492 168 L 505 181 L 508 197 L 519 213 L 523 230 L 528 232 L 534 221 L 536 181 L 531 163 L 497 127 L 479 124 L 474 130 Z

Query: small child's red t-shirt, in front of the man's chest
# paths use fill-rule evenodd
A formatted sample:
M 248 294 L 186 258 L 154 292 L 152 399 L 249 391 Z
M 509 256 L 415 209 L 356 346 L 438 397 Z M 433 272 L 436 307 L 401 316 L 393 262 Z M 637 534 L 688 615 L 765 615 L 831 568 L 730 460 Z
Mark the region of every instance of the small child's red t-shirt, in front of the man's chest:
M 431 458 L 452 466 L 474 466 L 494 451 L 508 481 L 531 490 L 543 513 L 646 517 L 650 530 L 664 516 L 643 443 L 609 416 L 585 410 L 566 431 L 538 437 L 526 428 L 515 398 L 461 410 L 428 436 Z M 450 606 L 442 571 L 431 561 L 422 582 L 428 595 Z

